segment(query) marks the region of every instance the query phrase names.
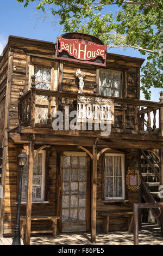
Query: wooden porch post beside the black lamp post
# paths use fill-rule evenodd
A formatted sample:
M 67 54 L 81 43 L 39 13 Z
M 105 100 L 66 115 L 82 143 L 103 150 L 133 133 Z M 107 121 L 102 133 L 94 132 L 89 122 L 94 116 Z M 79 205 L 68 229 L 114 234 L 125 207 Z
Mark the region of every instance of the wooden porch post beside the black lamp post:
M 32 187 L 33 187 L 33 162 L 34 162 L 34 135 L 29 144 L 29 170 L 28 170 L 28 192 L 26 207 L 26 236 L 25 245 L 30 245 L 30 224 L 32 213 Z

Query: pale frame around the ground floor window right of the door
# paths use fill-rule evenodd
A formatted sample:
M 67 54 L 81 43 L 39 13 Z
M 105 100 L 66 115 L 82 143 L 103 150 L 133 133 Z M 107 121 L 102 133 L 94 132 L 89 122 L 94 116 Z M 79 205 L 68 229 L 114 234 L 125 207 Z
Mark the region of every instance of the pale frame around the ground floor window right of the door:
M 105 156 L 120 156 L 121 157 L 121 169 L 122 169 L 122 197 L 105 197 L 105 168 L 104 168 L 104 199 L 109 200 L 124 200 L 125 199 L 125 171 L 124 171 L 124 154 L 119 153 L 105 153 Z

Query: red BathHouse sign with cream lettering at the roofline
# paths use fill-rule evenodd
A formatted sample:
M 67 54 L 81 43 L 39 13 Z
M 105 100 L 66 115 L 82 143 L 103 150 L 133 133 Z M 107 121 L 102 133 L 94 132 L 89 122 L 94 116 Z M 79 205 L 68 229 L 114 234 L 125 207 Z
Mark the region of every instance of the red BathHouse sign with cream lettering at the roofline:
M 105 66 L 106 50 L 107 45 L 96 44 L 93 41 L 85 39 L 67 39 L 60 36 L 57 46 L 57 53 L 60 56 L 58 57 L 56 54 L 56 58 L 71 58 L 72 61 L 85 61 L 87 63 Z M 67 56 L 64 55 L 65 52 L 68 53 Z M 97 62 L 96 59 L 98 59 Z

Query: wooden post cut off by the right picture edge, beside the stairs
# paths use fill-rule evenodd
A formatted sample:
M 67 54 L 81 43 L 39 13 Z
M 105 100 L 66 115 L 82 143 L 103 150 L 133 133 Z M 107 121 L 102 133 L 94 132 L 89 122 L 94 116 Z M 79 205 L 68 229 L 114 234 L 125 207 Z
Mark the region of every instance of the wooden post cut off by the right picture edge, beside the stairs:
M 163 104 L 163 92 L 160 92 L 160 103 Z M 163 105 L 160 108 L 160 134 L 163 136 Z M 163 149 L 160 149 L 160 185 L 163 185 Z M 160 199 L 163 203 L 163 198 Z M 161 218 L 160 218 L 161 236 L 163 236 L 163 208 L 161 208 Z

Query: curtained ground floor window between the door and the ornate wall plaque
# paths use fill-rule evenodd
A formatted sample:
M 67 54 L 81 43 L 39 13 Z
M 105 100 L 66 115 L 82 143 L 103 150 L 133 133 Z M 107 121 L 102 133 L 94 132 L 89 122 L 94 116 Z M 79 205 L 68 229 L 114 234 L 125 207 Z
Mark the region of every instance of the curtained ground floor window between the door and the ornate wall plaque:
M 124 154 L 106 153 L 104 158 L 104 200 L 124 199 Z

